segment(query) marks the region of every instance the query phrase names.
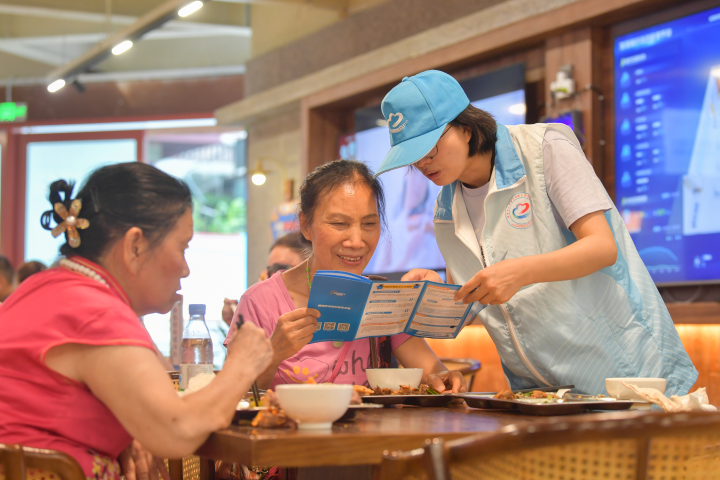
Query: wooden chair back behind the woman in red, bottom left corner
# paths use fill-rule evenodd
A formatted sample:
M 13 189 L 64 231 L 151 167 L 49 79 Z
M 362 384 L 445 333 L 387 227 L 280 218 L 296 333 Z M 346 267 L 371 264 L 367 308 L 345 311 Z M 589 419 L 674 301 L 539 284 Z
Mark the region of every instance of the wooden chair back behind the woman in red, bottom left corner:
M 0 443 L 0 478 L 5 480 L 85 480 L 85 473 L 73 457 L 57 450 Z

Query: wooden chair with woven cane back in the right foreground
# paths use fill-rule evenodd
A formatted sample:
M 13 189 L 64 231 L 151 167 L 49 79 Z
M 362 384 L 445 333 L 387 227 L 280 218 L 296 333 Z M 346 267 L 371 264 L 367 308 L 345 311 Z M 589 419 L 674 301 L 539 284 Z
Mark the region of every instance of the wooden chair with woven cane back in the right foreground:
M 385 452 L 380 480 L 720 479 L 720 414 L 604 414 Z

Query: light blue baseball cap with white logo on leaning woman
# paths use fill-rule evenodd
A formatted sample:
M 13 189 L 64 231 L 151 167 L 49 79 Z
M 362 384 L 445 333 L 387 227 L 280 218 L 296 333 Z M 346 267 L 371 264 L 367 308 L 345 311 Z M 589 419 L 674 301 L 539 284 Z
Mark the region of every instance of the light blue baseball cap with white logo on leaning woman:
M 382 102 L 392 148 L 375 176 L 412 165 L 430 153 L 445 126 L 468 105 L 462 87 L 447 73 L 428 70 L 403 78 Z

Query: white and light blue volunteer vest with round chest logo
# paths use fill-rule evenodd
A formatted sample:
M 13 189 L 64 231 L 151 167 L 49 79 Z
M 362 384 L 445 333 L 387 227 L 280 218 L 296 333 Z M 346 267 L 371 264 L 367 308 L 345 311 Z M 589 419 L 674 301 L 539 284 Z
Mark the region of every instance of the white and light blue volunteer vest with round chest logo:
M 547 194 L 542 140 L 551 129 L 580 149 L 565 125 L 498 124 L 483 248 L 459 182 L 438 194 L 435 235 L 455 283 L 470 280 L 483 264 L 552 252 L 576 241 L 555 221 Z M 607 394 L 608 377 L 660 377 L 667 379 L 669 397 L 687 394 L 697 380 L 620 214 L 613 207 L 605 218 L 617 244 L 615 265 L 577 280 L 528 285 L 503 305 L 473 306 L 512 389 L 574 384 L 580 393 Z

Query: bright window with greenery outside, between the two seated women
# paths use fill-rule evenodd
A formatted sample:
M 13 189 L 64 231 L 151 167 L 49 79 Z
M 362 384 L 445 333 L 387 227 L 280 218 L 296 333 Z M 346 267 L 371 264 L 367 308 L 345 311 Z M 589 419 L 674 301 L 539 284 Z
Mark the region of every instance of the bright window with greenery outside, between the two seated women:
M 222 342 L 223 299 L 238 299 L 246 289 L 245 132 L 148 135 L 148 163 L 183 179 L 193 195 L 195 235 L 186 252 L 190 276 L 182 280 L 183 316 L 188 305 L 207 307 L 215 366 L 226 351 Z M 170 314 L 147 315 L 145 326 L 158 348 L 170 355 Z

